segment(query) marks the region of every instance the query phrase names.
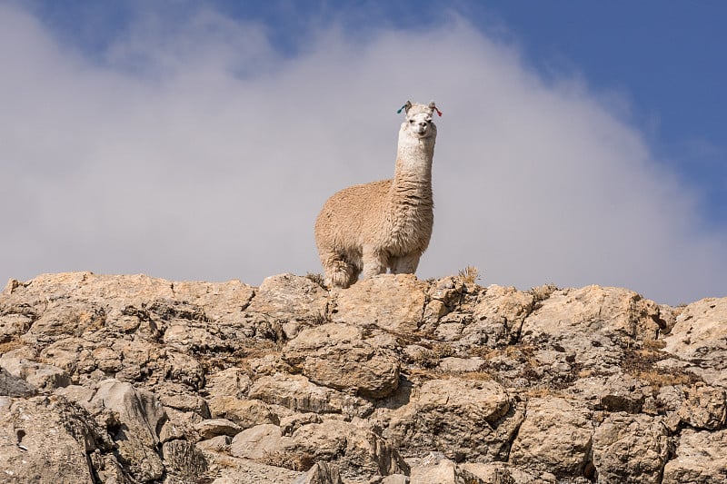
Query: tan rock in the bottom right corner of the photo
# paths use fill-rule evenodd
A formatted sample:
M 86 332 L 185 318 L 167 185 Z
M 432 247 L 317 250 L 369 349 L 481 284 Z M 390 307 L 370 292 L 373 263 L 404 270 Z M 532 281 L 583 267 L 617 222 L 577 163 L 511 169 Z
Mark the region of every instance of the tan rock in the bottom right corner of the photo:
M 676 455 L 664 467 L 662 484 L 727 482 L 727 430 L 682 430 Z

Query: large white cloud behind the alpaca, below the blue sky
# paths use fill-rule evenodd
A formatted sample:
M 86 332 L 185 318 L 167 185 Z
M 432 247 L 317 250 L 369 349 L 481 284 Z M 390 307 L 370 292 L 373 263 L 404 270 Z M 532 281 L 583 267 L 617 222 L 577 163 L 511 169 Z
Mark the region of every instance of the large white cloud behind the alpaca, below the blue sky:
M 292 59 L 261 25 L 160 22 L 142 16 L 99 63 L 0 6 L 0 278 L 320 272 L 325 198 L 390 177 L 396 109 L 435 99 L 420 277 L 476 265 L 484 284 L 725 295 L 725 232 L 703 229 L 695 193 L 620 121 L 622 100 L 543 82 L 462 21 L 365 43 L 332 28 Z

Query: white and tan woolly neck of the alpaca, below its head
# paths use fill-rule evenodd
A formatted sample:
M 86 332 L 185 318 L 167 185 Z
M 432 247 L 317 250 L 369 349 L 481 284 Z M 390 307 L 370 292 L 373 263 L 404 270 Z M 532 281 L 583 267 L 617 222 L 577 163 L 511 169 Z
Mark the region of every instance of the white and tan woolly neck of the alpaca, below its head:
M 400 134 L 396 154 L 392 185 L 394 198 L 431 203 L 434 139 Z

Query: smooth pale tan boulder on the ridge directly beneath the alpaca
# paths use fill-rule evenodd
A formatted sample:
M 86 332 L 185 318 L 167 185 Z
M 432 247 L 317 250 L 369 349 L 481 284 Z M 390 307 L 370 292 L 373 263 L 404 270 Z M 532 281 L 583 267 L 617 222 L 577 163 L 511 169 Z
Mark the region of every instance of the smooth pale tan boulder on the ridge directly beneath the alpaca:
M 334 322 L 416 331 L 423 321 L 427 285 L 413 274 L 382 274 L 335 293 Z

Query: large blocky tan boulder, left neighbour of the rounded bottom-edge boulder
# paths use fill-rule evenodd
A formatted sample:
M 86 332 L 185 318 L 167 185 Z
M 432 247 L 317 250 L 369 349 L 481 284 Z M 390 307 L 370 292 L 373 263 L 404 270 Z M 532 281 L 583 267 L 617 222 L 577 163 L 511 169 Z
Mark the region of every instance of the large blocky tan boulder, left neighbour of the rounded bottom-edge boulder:
M 558 479 L 583 476 L 591 453 L 593 413 L 558 397 L 531 399 L 510 451 L 510 463 L 550 472 Z

